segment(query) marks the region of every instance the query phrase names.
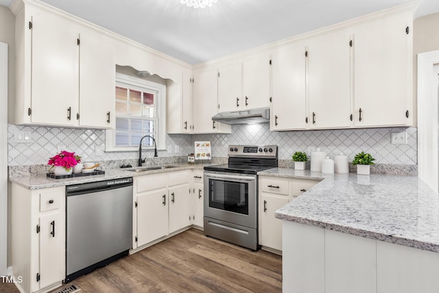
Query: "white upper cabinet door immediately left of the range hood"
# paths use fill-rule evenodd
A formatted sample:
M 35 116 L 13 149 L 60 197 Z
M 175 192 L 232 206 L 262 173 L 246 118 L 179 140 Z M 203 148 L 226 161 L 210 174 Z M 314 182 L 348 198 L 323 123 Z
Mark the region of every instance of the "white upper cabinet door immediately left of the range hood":
M 216 69 L 194 73 L 193 132 L 217 132 L 217 126 L 212 121 L 212 117 L 217 114 L 217 88 Z

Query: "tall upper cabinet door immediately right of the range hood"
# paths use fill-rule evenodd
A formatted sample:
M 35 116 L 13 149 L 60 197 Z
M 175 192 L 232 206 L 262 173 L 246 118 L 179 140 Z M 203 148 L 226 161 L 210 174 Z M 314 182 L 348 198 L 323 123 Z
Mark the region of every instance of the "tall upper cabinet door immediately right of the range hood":
M 305 129 L 305 45 L 279 49 L 272 56 L 271 130 Z

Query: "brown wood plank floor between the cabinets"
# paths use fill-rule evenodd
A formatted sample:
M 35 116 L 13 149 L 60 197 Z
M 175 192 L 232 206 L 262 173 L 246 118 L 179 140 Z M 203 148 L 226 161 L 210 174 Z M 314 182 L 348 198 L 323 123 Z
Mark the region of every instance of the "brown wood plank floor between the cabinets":
M 282 257 L 190 229 L 71 283 L 82 292 L 281 292 Z

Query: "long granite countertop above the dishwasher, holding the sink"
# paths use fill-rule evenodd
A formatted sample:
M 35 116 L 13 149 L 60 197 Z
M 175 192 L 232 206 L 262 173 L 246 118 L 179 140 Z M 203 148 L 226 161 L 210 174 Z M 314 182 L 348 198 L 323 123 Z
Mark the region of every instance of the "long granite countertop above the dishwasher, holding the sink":
M 127 178 L 127 177 L 135 177 L 141 175 L 149 175 L 149 174 L 159 174 L 165 172 L 175 172 L 186 169 L 203 169 L 204 165 L 189 165 L 187 163 L 184 164 L 170 164 L 176 167 L 167 168 L 167 169 L 155 169 L 155 170 L 145 170 L 141 172 L 132 172 L 128 171 L 128 169 L 106 169 L 104 175 L 93 175 L 93 176 L 81 176 L 81 177 L 72 177 L 65 179 L 54 179 L 49 178 L 45 175 L 34 175 L 34 176 L 10 176 L 9 180 L 12 183 L 16 183 L 25 187 L 27 189 L 41 189 L 47 187 L 57 187 L 57 186 L 65 186 L 65 185 L 74 185 L 81 183 L 90 183 L 104 180 L 112 180 L 119 178 Z

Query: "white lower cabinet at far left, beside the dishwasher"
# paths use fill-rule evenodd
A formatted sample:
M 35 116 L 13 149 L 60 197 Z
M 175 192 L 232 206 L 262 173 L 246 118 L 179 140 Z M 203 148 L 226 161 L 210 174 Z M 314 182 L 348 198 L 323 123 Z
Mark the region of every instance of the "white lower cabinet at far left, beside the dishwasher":
M 47 292 L 65 279 L 65 187 L 12 183 L 12 276 L 21 292 Z

